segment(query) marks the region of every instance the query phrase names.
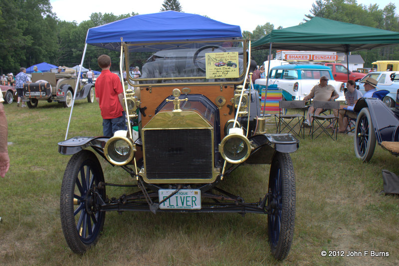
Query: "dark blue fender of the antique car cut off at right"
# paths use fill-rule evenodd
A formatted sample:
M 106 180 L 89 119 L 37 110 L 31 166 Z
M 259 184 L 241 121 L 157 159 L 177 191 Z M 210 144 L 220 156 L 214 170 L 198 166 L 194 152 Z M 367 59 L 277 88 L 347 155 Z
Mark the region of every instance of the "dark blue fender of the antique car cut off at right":
M 355 107 L 355 112 L 363 108 L 369 108 L 371 122 L 376 133 L 378 143 L 383 141 L 398 141 L 397 134 L 394 134 L 399 127 L 399 119 L 382 100 L 376 98 L 360 98 Z

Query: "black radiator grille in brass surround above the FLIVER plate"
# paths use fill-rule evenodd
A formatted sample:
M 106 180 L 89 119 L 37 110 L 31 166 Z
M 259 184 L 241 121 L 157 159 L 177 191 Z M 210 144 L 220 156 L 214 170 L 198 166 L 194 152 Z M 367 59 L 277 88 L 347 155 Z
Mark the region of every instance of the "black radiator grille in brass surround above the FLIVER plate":
M 148 179 L 211 179 L 211 129 L 144 131 Z

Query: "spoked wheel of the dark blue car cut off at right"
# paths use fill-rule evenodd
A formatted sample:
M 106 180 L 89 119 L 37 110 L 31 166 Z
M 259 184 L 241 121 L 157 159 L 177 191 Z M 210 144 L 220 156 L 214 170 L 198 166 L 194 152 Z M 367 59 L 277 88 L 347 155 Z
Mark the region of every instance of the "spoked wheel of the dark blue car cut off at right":
M 369 108 L 363 108 L 356 120 L 355 125 L 355 154 L 364 163 L 367 163 L 373 157 L 376 148 L 376 134 L 373 128 Z

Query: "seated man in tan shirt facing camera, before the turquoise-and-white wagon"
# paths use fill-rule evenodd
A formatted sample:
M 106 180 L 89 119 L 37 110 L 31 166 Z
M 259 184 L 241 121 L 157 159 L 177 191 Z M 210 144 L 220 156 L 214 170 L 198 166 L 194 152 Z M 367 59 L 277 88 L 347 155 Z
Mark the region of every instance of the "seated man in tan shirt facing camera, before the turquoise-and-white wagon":
M 338 93 L 335 91 L 333 85 L 328 85 L 328 78 L 326 76 L 320 77 L 320 83 L 316 84 L 312 90 L 310 91 L 309 95 L 303 98 L 304 101 L 314 99 L 316 101 L 334 101 L 339 97 Z M 308 113 L 306 114 L 305 125 L 310 126 L 312 124 L 312 118 L 310 117 L 313 112 L 315 115 L 319 115 L 323 111 L 321 108 L 317 108 L 314 111 L 313 106 L 309 107 Z M 333 110 L 334 115 L 338 116 L 338 110 Z

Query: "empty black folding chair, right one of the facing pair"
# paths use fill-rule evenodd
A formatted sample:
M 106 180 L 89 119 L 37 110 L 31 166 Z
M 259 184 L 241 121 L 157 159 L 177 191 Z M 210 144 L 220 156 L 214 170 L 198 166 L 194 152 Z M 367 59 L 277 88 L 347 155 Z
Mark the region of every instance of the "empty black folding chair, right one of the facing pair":
M 339 109 L 340 108 L 340 102 L 339 101 L 313 101 L 313 114 L 311 114 L 313 120 L 312 124 L 310 125 L 310 131 L 309 134 L 311 134 L 312 139 L 317 138 L 320 136 L 323 132 L 326 133 L 330 138 L 334 140 L 334 133 L 335 133 L 335 140 L 337 140 L 337 125 L 338 125 L 338 116 L 335 116 L 334 114 L 319 114 L 315 115 L 315 112 L 318 108 L 321 109 Z M 331 111 L 330 111 L 331 112 Z M 315 123 L 317 124 L 316 129 L 315 129 Z M 333 131 L 330 133 L 328 131 L 328 128 L 325 126 L 332 125 Z M 314 137 L 315 133 L 321 129 L 321 132 Z

